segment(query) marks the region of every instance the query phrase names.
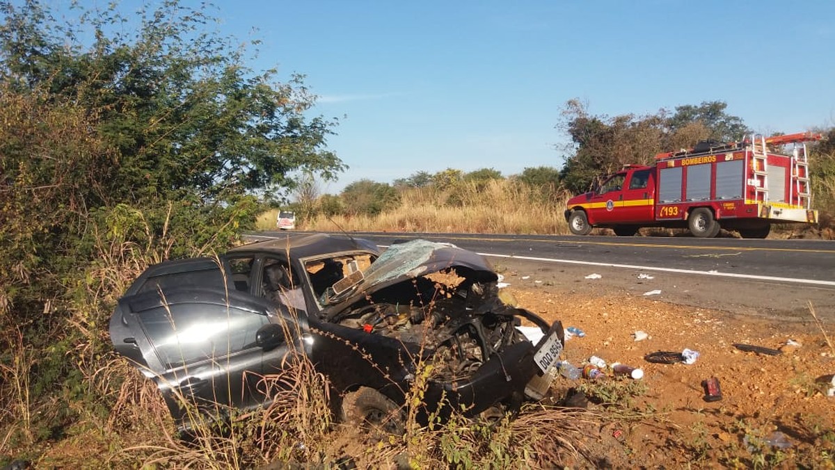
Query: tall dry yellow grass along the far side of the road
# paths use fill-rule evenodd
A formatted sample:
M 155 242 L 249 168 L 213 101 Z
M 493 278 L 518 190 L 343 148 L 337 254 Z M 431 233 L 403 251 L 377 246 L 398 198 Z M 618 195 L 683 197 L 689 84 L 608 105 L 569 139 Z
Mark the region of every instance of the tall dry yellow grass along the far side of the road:
M 401 193 L 397 209 L 377 216 L 318 216 L 302 221 L 305 230 L 393 230 L 565 234 L 563 211 L 569 195 L 542 195 L 514 179 L 460 183 L 451 190 L 417 188 Z

